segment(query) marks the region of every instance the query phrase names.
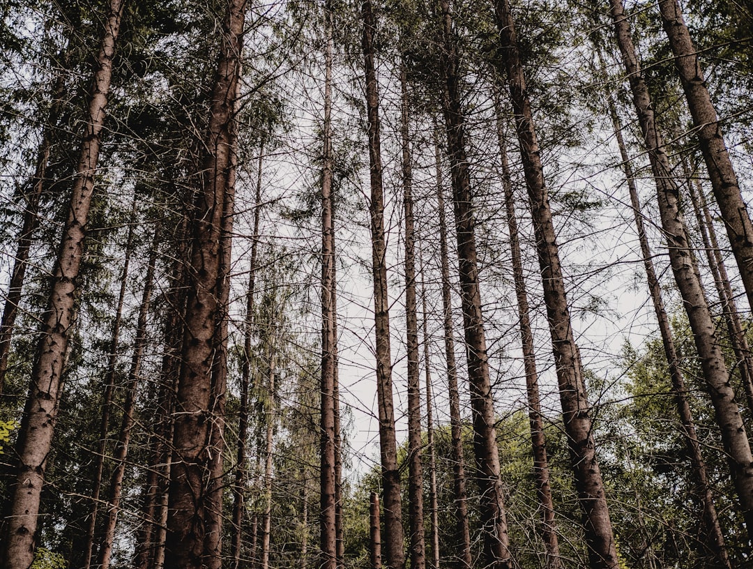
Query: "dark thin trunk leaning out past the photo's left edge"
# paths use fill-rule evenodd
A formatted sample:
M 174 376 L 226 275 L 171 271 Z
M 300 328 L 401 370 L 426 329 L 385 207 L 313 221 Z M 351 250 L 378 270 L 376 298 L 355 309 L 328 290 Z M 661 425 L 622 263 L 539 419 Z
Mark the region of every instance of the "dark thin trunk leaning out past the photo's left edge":
M 67 53 L 62 53 L 67 64 Z M 67 65 L 66 65 L 67 66 Z M 13 269 L 11 269 L 11 281 L 8 283 L 8 294 L 5 297 L 5 305 L 0 322 L 0 395 L 5 387 L 5 373 L 8 371 L 8 355 L 11 352 L 11 337 L 16 324 L 18 306 L 21 302 L 23 281 L 26 278 L 26 263 L 29 260 L 29 250 L 32 247 L 32 238 L 39 224 L 39 202 L 44 189 L 47 187 L 47 163 L 50 161 L 50 150 L 53 143 L 53 120 L 57 117 L 62 106 L 62 95 L 66 87 L 66 74 L 59 69 L 55 74 L 55 81 L 51 91 L 52 107 L 50 108 L 42 131 L 42 139 L 37 152 L 37 163 L 32 176 L 32 191 L 26 196 L 26 206 L 23 210 L 23 224 L 18 236 L 16 254 L 13 257 Z

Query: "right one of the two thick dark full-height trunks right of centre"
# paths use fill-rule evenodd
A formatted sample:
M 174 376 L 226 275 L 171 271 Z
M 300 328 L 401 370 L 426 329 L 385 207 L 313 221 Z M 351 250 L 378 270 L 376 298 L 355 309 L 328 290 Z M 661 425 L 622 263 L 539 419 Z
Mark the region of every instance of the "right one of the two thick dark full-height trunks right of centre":
M 578 346 L 573 336 L 570 309 L 559 263 L 559 249 L 552 222 L 544 171 L 520 62 L 514 21 L 508 0 L 495 0 L 495 15 L 500 32 L 500 72 L 506 72 L 520 155 L 528 187 L 538 263 L 544 288 L 544 304 L 552 338 L 562 421 L 568 436 L 578 501 L 584 509 L 584 531 L 592 569 L 617 569 L 617 548 L 605 496 L 596 448 L 593 442 L 590 404 L 583 377 Z M 500 74 L 502 75 L 502 73 Z

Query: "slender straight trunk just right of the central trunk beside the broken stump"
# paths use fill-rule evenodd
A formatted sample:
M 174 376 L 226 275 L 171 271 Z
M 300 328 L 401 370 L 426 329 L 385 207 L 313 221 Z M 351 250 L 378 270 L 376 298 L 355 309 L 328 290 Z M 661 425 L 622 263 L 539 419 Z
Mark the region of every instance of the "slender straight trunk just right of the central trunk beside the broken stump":
M 405 215 L 405 328 L 408 358 L 408 519 L 410 567 L 425 569 L 423 516 L 423 443 L 421 440 L 421 387 L 419 324 L 416 315 L 416 245 L 413 229 L 413 172 L 410 164 L 408 86 L 404 62 L 400 69 L 403 208 Z

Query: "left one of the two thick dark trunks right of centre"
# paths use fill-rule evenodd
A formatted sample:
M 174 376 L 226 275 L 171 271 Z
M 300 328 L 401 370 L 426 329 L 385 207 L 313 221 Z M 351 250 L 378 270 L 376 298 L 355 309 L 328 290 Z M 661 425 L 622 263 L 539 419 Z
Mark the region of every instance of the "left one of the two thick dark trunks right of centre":
M 483 558 L 492 569 L 512 567 L 509 549 L 505 497 L 500 479 L 499 452 L 495 429 L 494 399 L 486 354 L 486 334 L 476 255 L 476 237 L 471 193 L 471 175 L 465 155 L 465 117 L 460 103 L 459 54 L 452 29 L 449 0 L 442 0 L 444 50 L 444 120 L 450 155 L 455 227 L 458 241 L 460 292 L 468 354 L 468 382 L 474 426 L 474 455 L 481 494 L 480 522 L 483 530 Z

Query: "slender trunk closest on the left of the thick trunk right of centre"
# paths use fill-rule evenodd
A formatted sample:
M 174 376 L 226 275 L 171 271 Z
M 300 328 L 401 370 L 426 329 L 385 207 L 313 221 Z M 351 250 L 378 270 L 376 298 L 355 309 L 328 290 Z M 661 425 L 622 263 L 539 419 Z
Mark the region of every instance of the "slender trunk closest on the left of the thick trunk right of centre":
M 455 359 L 455 339 L 453 337 L 453 301 L 450 296 L 450 255 L 447 251 L 447 222 L 444 215 L 442 195 L 442 162 L 439 141 L 434 141 L 434 158 L 437 166 L 437 211 L 439 213 L 439 256 L 442 272 L 442 320 L 444 325 L 444 353 L 447 361 L 447 391 L 450 397 L 450 434 L 452 438 L 453 460 L 453 502 L 455 504 L 456 530 L 454 543 L 457 544 L 456 569 L 470 569 L 471 531 L 468 527 L 468 493 L 465 490 L 465 458 L 463 456 L 462 418 L 460 417 L 460 394 L 458 390 L 458 368 Z

